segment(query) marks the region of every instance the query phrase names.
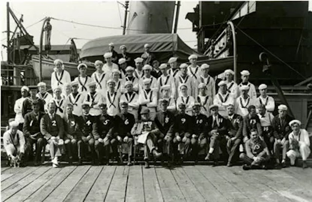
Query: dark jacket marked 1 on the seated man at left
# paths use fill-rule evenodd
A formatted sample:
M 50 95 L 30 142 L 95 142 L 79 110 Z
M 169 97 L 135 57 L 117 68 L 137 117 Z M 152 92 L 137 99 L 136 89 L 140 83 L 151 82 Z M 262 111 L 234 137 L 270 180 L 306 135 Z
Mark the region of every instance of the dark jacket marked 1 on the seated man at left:
M 40 132 L 40 120 L 42 118 L 42 116 L 44 115 L 43 112 L 39 111 L 38 112 L 38 119 L 35 115 L 34 111 L 28 112 L 25 115 L 24 118 L 24 125 L 23 125 L 23 133 L 24 133 L 24 137 L 27 138 L 30 135 L 40 135 L 41 136 L 41 132 Z

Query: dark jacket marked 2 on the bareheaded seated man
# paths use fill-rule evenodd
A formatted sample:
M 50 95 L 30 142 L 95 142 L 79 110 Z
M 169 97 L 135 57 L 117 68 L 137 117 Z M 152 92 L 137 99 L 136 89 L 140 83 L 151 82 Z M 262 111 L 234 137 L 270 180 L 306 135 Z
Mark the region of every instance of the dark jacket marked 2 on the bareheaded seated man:
M 42 116 L 40 121 L 40 131 L 46 140 L 49 140 L 52 136 L 59 136 L 60 139 L 63 139 L 64 136 L 63 119 L 58 114 L 54 115 L 55 122 L 50 119 L 50 116 L 47 113 Z M 52 131 L 53 125 L 56 125 L 55 127 L 58 129 L 55 132 Z

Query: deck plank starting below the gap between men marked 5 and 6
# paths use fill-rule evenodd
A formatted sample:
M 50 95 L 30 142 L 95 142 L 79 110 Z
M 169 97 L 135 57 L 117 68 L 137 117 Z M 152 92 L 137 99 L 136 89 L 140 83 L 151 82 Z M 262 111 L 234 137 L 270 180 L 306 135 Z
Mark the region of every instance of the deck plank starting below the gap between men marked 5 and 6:
M 98 179 L 95 181 L 89 194 L 85 198 L 86 202 L 103 202 L 109 186 L 112 182 L 116 171 L 116 166 L 104 166 L 102 171 L 98 175 Z

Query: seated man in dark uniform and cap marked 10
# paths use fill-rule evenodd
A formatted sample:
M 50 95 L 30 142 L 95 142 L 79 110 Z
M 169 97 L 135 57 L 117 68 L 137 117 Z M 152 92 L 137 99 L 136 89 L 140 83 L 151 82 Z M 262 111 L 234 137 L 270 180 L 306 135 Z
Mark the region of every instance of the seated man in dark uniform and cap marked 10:
M 197 156 L 200 149 L 203 149 L 207 145 L 207 124 L 208 117 L 202 113 L 200 113 L 200 103 L 195 103 L 193 106 L 194 110 L 194 133 L 192 135 L 191 144 L 193 147 L 193 157 L 195 159 L 195 164 L 197 163 Z M 198 148 L 199 147 L 199 148 Z

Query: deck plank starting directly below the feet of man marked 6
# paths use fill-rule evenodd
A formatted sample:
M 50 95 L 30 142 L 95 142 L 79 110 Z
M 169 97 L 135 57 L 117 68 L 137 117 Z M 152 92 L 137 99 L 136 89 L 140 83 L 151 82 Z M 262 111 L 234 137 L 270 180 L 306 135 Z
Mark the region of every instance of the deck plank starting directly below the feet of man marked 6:
M 116 167 L 115 175 L 108 189 L 105 201 L 107 202 L 125 201 L 128 176 L 129 176 L 129 166 Z

